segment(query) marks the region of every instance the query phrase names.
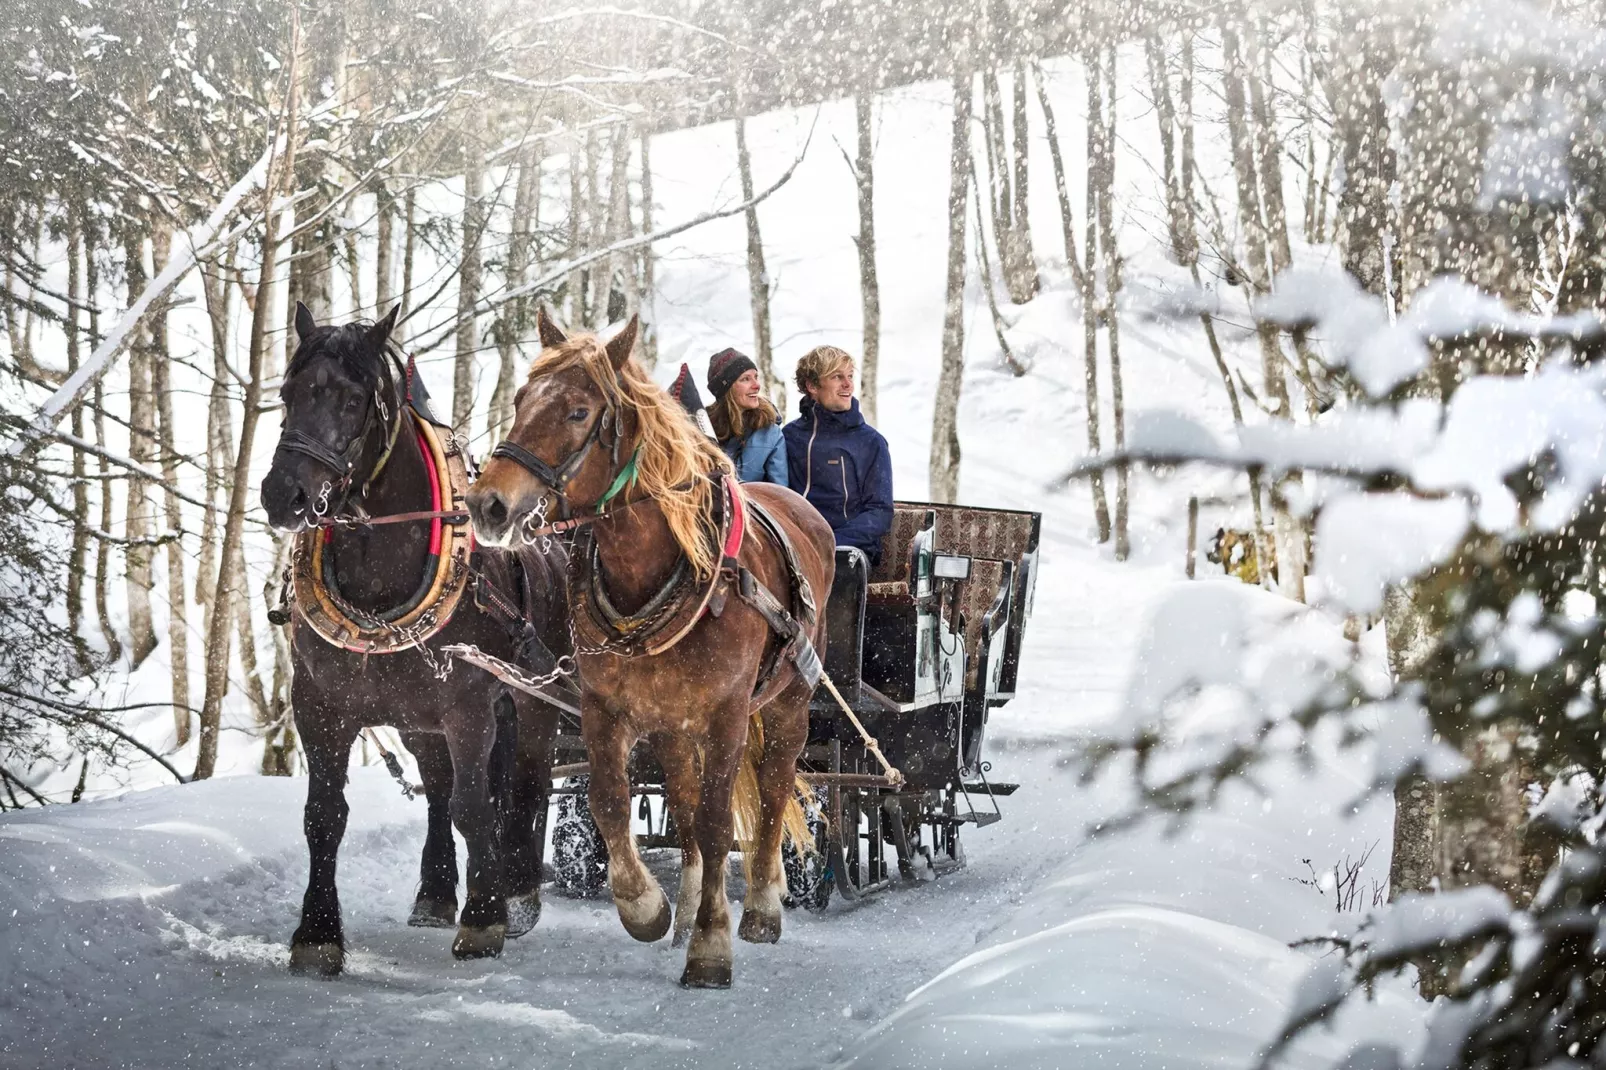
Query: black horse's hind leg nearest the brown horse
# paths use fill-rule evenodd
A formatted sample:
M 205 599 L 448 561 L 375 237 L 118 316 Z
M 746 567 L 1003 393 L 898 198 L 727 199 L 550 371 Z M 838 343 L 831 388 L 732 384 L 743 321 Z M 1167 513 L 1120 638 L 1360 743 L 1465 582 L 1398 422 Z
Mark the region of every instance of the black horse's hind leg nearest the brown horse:
M 546 853 L 546 807 L 552 795 L 552 739 L 557 718 L 525 694 L 512 696 L 519 717 L 519 749 L 512 790 L 503 811 L 503 866 L 507 876 L 507 935 L 541 921 L 541 858 Z

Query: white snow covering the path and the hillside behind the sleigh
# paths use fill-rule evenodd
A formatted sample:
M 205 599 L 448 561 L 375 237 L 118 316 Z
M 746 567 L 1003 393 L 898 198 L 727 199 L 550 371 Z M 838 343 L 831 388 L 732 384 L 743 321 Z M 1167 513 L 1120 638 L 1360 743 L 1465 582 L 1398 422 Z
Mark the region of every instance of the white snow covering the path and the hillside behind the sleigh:
M 1054 96 L 1062 116 L 1081 114 L 1073 67 L 1057 71 Z M 1147 114 L 1135 95 L 1124 108 Z M 764 185 L 814 129 L 797 177 L 761 209 L 782 371 L 819 342 L 859 349 L 853 186 L 834 143 L 851 143 L 851 106 L 827 104 L 814 122 L 808 109 L 752 130 Z M 1123 202 L 1127 408 L 1176 408 L 1225 427 L 1196 326 L 1145 315 L 1177 272 L 1148 238 L 1158 231 L 1139 162 L 1148 125 L 1132 119 L 1124 138 L 1131 157 L 1119 169 L 1134 188 Z M 1066 137 L 1066 151 L 1079 177 L 1076 138 Z M 878 423 L 909 498 L 927 482 L 946 161 L 946 88 L 888 95 L 877 154 Z M 1041 141 L 1033 162 L 1050 174 Z M 660 137 L 654 164 L 662 220 L 736 196 L 729 125 Z M 1174 837 L 1155 827 L 1089 837 L 1127 794 L 1118 778 L 1081 784 L 1068 758 L 1113 721 L 1145 668 L 1135 652 L 1147 614 L 1184 582 L 1185 496 L 1204 498 L 1204 532 L 1238 517 L 1213 504 L 1229 490 L 1224 477 L 1135 476 L 1134 559 L 1116 564 L 1090 538 L 1086 487 L 1044 490 L 1082 451 L 1086 432 L 1079 308 L 1052 267 L 1058 218 L 1046 178 L 1033 198 L 1047 289 L 1012 313 L 1029 374 L 1001 368 L 975 281 L 967 302 L 960 496 L 1046 514 L 1023 691 L 994 715 L 991 742 L 993 778 L 1023 787 L 1004 800 L 1005 821 L 968 834 L 967 869 L 821 917 L 789 914 L 779 945 L 737 945 L 729 993 L 681 991 L 681 953 L 631 941 L 604 900 L 549 896 L 541 924 L 501 959 L 458 964 L 450 933 L 403 924 L 422 803 L 402 800 L 381 770 L 358 770 L 340 864 L 349 969 L 326 982 L 284 969 L 305 880 L 304 781 L 226 776 L 6 815 L 0 1065 L 1253 1065 L 1310 961 L 1288 941 L 1336 924 L 1328 895 L 1299 884 L 1310 876 L 1306 860 L 1327 869 L 1376 843 L 1362 882 L 1384 880 L 1391 815 L 1386 802 L 1346 813 L 1362 782 L 1330 758 L 1310 776 L 1277 771 L 1262 795 L 1229 792 L 1217 813 Z M 1081 204 L 1079 190 L 1071 199 Z M 660 249 L 662 378 L 681 358 L 700 373 L 707 353 L 748 342 L 744 251 L 740 220 Z M 1229 329 L 1224 341 L 1237 352 L 1243 339 Z M 432 360 L 422 371 L 445 397 L 450 365 Z M 483 397 L 488 378 L 482 387 Z M 263 434 L 265 463 L 273 427 Z M 164 657 L 125 694 L 165 694 Z M 244 705 L 231 717 L 244 725 Z M 146 728 L 164 731 L 164 718 Z M 246 733 L 226 734 L 222 768 L 249 773 L 255 760 Z M 133 782 L 159 778 L 137 773 Z M 673 863 L 655 864 L 673 885 Z M 1420 1014 L 1386 993 L 1343 1033 L 1410 1036 Z M 1341 1049 L 1317 1036 L 1299 1065 Z

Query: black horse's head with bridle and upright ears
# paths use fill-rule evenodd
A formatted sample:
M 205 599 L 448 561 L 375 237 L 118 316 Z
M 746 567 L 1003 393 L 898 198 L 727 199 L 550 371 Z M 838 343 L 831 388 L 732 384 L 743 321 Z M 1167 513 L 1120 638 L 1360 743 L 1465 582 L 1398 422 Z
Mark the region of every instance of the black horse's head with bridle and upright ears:
M 279 398 L 284 423 L 262 479 L 268 524 L 299 530 L 340 516 L 389 447 L 402 382 L 385 355 L 397 310 L 374 325 L 318 326 L 296 305 L 296 355 Z

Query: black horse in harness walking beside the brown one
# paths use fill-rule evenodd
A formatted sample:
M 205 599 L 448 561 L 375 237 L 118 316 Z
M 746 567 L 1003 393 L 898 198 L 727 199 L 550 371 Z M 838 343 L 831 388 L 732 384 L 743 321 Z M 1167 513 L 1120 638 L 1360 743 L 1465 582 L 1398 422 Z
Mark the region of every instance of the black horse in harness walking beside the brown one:
M 406 408 L 427 400 L 389 353 L 395 310 L 377 325 L 318 326 L 296 308 L 299 345 L 284 374 L 284 429 L 262 480 L 273 527 L 304 530 L 323 517 L 395 516 L 430 509 L 430 463 Z M 389 450 L 389 456 L 387 456 Z M 377 474 L 376 474 L 377 469 Z M 337 527 L 324 553 L 337 562 L 340 598 L 382 619 L 419 590 L 430 561 L 429 521 Z M 541 855 L 551 792 L 557 715 L 509 694 L 488 673 L 442 680 L 440 646 L 472 643 L 488 654 L 549 672 L 570 652 L 565 554 L 482 549 L 474 583 L 501 585 L 483 599 L 464 594 L 450 623 L 424 651 L 350 652 L 292 620 L 296 676 L 291 702 L 307 752 L 305 831 L 312 856 L 302 922 L 291 938 L 291 969 L 337 974 L 345 959 L 334 869 L 345 834 L 345 774 L 365 726 L 390 725 L 418 757 L 429 798 L 421 885 L 410 924 L 451 925 L 458 860 L 451 826 L 467 843 L 467 900 L 453 954 L 501 953 L 504 937 L 540 917 Z M 517 582 L 519 569 L 527 582 Z M 524 622 L 488 606 L 519 602 Z M 524 627 L 522 635 L 519 625 Z M 427 649 L 434 647 L 434 651 Z M 544 662 L 544 664 L 543 664 Z M 516 713 L 516 715 L 514 715 Z M 491 762 L 493 749 L 499 762 Z M 501 766 L 504 776 L 495 776 Z M 496 790 L 493 779 L 503 779 Z

